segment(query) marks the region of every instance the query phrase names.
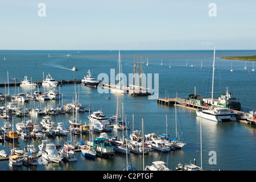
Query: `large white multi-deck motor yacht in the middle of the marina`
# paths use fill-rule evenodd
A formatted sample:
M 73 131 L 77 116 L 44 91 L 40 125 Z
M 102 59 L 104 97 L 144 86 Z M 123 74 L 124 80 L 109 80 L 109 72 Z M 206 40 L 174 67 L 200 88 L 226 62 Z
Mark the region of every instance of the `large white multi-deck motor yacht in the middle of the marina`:
M 111 131 L 109 118 L 102 113 L 102 111 L 94 111 L 88 116 L 90 122 L 93 124 L 94 131 Z

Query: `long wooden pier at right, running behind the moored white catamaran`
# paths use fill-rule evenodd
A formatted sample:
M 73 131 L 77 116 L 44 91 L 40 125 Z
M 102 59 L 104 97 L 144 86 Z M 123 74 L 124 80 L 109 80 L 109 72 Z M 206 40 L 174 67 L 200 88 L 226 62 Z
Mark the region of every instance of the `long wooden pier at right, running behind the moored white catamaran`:
M 184 107 L 186 109 L 191 109 L 191 110 L 198 110 L 198 109 L 209 109 L 210 106 L 200 106 L 200 105 L 195 105 L 195 104 L 191 104 L 191 102 L 189 102 L 188 100 L 185 100 L 183 98 L 158 98 L 157 102 L 159 104 L 165 104 L 165 105 L 170 105 L 170 104 L 175 104 L 179 107 Z M 213 106 L 216 107 L 216 106 Z M 256 119 L 253 119 L 253 117 L 249 114 L 249 113 L 245 113 L 243 111 L 238 111 L 238 110 L 233 110 L 234 113 L 236 113 L 236 119 L 239 122 L 243 122 L 243 123 L 256 123 Z

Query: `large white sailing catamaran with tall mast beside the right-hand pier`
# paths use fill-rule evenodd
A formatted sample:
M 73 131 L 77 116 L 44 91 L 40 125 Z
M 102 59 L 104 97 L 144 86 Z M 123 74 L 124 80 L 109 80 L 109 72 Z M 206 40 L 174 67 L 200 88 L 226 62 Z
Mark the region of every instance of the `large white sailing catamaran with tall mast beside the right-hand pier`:
M 236 121 L 235 114 L 229 108 L 214 107 L 213 108 L 213 81 L 214 81 L 214 63 L 215 63 L 215 47 L 213 53 L 213 73 L 212 73 L 212 102 L 211 109 L 208 110 L 197 110 L 196 114 L 199 117 L 209 119 L 216 122 L 222 121 Z

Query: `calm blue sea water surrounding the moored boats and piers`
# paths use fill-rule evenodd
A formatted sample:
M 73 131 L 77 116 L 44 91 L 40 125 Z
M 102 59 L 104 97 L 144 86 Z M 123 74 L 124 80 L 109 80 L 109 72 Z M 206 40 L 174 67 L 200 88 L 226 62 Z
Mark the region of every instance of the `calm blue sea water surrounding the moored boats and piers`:
M 209 51 L 121 51 L 122 71 L 127 76 L 133 73 L 134 53 L 141 55 L 143 60 L 148 57 L 148 66 L 143 65 L 144 73 L 159 74 L 159 97 L 187 98 L 189 94 L 194 93 L 206 96 L 207 90 L 211 90 L 210 68 L 213 57 L 213 50 Z M 48 54 L 50 57 L 48 58 Z M 67 55 L 72 55 L 67 57 Z M 224 60 L 219 56 L 243 56 L 256 55 L 256 50 L 220 50 L 216 51 L 216 71 L 214 76 L 214 98 L 225 93 L 226 87 L 235 97 L 240 99 L 244 111 L 255 109 L 255 80 L 256 73 L 251 71 L 253 63 L 246 62 L 247 70 L 244 69 L 245 61 Z M 6 57 L 4 61 L 3 57 Z M 161 59 L 163 65 L 160 65 Z M 22 81 L 24 76 L 32 78 L 32 81 L 42 81 L 44 76 L 51 74 L 56 80 L 81 80 L 86 75 L 88 69 L 96 78 L 100 73 L 106 73 L 110 77 L 110 69 L 117 69 L 118 51 L 0 51 L 0 82 L 7 82 L 7 71 L 9 78 L 17 78 Z M 188 60 L 188 66 L 186 66 Z M 203 69 L 201 69 L 201 61 Z M 234 72 L 230 72 L 231 62 Z M 169 66 L 172 68 L 169 68 Z M 195 67 L 191 67 L 195 65 Z M 79 71 L 71 71 L 73 66 L 77 66 Z M 141 66 L 140 66 L 141 67 Z M 256 67 L 256 65 L 255 65 Z M 209 88 L 208 88 L 209 84 Z M 43 92 L 44 88 L 39 88 Z M 154 89 L 154 84 L 151 89 Z M 35 89 L 34 89 L 35 90 Z M 34 92 L 32 90 L 32 92 Z M 95 88 L 85 86 L 76 86 L 79 91 L 80 103 L 91 109 L 102 110 L 104 114 L 111 117 L 115 114 L 116 98 L 112 93 L 98 93 Z M 29 92 L 20 87 L 11 87 L 10 93 Z M 0 88 L 0 92 L 7 92 L 7 88 Z M 63 93 L 63 101 L 69 103 L 75 98 L 75 86 L 63 85 L 60 87 Z M 110 99 L 106 99 L 110 97 Z M 210 93 L 208 93 L 210 97 Z M 142 130 L 142 118 L 144 121 L 144 134 L 147 133 L 166 133 L 166 114 L 168 122 L 168 134 L 174 135 L 174 106 L 165 106 L 157 104 L 156 100 L 148 100 L 147 97 L 131 97 L 128 94 L 119 96 L 120 104 L 123 102 L 127 121 L 130 127 Z M 42 108 L 45 105 L 56 106 L 59 101 L 47 101 L 46 103 L 35 102 Z M 20 104 L 24 107 L 23 104 Z M 1 105 L 2 106 L 2 105 Z M 34 102 L 32 102 L 34 106 Z M 29 107 L 29 106 L 27 106 Z M 154 151 L 151 155 L 144 158 L 146 165 L 151 165 L 154 160 L 164 160 L 168 167 L 175 170 L 178 163 L 189 163 L 196 159 L 200 165 L 200 119 L 196 117 L 195 111 L 177 107 L 182 129 L 187 145 L 182 150 L 172 151 L 169 154 Z M 134 114 L 134 126 L 132 118 Z M 68 127 L 68 118 L 70 114 L 52 116 L 56 122 L 64 122 Z M 88 123 L 88 113 L 80 113 L 82 122 Z M 41 121 L 41 117 L 35 118 L 36 122 Z M 0 118 L 0 125 L 11 120 Z M 21 122 L 20 118 L 14 117 L 14 125 Z M 203 127 L 203 169 L 205 170 L 255 170 L 256 169 L 256 136 L 255 125 L 245 125 L 238 122 L 216 123 L 208 120 L 202 120 Z M 181 129 L 179 127 L 181 136 Z M 109 133 L 114 136 L 121 136 L 122 132 L 113 131 Z M 67 137 L 49 138 L 50 142 L 63 144 Z M 88 135 L 77 137 L 77 140 L 88 140 Z M 32 140 L 35 146 L 42 143 L 42 140 Z M 19 146 L 24 147 L 26 141 L 19 139 Z M 3 144 L 1 144 L 3 146 Z M 7 151 L 10 151 L 11 144 L 6 143 Z M 39 151 L 39 149 L 38 149 Z M 209 164 L 209 152 L 215 151 L 217 164 Z M 80 152 L 77 152 L 77 162 L 61 162 L 60 164 L 48 163 L 40 164 L 37 167 L 20 167 L 18 170 L 122 170 L 126 167 L 126 155 L 115 154 L 112 159 L 96 158 L 95 160 L 85 159 Z M 130 154 L 130 160 L 133 167 L 142 170 L 142 156 Z M 0 162 L 0 170 L 7 171 L 13 168 L 9 167 L 9 161 Z

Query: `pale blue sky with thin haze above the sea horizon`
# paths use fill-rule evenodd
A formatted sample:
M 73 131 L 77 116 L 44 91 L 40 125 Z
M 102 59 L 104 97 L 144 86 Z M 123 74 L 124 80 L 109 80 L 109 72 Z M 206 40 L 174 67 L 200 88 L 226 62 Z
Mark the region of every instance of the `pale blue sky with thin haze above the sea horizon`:
M 0 22 L 0 49 L 256 49 L 255 0 L 10 0 Z

